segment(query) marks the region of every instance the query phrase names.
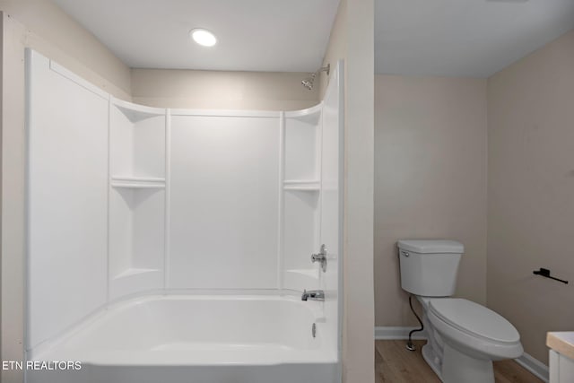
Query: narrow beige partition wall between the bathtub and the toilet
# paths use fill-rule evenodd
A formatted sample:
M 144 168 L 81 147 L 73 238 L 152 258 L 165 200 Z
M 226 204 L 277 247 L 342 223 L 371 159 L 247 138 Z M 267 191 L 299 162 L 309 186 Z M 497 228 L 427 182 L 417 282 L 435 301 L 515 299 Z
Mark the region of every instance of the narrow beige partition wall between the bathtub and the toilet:
M 324 65 L 344 59 L 344 382 L 374 374 L 373 0 L 342 0 Z M 322 76 L 325 89 L 325 76 Z

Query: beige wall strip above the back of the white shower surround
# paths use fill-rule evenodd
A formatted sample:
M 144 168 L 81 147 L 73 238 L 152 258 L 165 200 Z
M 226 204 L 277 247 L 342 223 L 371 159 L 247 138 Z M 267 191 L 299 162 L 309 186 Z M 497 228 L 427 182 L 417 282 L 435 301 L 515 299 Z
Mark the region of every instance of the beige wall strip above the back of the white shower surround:
M 306 109 L 319 101 L 301 85 L 307 73 L 132 69 L 136 103 L 161 108 Z

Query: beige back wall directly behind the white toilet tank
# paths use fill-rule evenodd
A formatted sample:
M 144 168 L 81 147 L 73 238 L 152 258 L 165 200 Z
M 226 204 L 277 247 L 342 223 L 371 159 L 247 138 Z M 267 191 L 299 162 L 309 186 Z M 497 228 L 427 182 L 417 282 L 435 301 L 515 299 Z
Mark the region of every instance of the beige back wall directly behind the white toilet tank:
M 462 242 L 457 296 L 486 302 L 486 133 L 486 80 L 376 76 L 377 326 L 416 324 L 398 239 Z

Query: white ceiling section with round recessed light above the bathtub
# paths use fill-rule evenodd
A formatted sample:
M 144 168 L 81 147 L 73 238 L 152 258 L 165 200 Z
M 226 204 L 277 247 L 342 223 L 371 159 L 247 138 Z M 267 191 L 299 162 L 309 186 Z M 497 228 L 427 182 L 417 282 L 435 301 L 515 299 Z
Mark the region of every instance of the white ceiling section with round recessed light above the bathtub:
M 314 72 L 339 0 L 54 0 L 127 65 Z M 213 48 L 188 37 L 212 30 Z

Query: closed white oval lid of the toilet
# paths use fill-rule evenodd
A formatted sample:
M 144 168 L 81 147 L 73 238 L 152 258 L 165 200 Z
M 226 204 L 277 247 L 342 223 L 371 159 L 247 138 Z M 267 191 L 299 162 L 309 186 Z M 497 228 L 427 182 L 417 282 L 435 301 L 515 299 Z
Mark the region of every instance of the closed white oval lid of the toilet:
M 430 300 L 429 310 L 437 318 L 466 335 L 495 344 L 520 342 L 517 329 L 507 319 L 471 300 L 459 298 Z

